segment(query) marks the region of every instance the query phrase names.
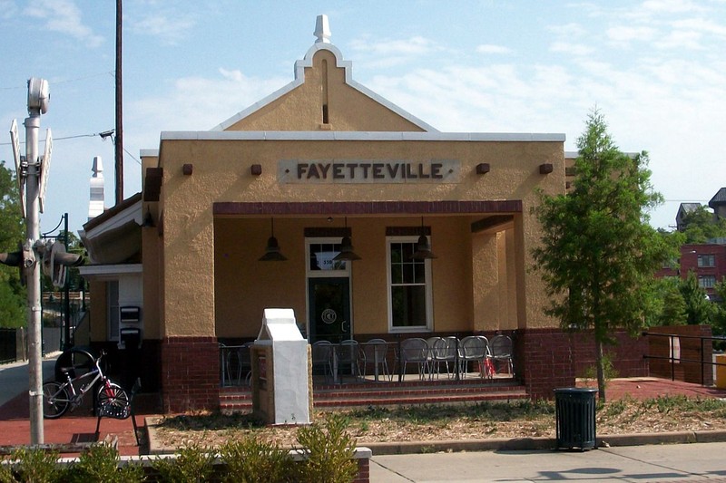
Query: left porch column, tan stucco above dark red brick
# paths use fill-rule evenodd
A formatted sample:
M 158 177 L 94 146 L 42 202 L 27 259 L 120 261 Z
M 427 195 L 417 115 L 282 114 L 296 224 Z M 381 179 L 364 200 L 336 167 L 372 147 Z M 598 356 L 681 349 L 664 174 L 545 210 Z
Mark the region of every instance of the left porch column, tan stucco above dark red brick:
M 220 405 L 220 351 L 214 318 L 214 224 L 211 203 L 165 209 L 162 302 L 164 411 Z

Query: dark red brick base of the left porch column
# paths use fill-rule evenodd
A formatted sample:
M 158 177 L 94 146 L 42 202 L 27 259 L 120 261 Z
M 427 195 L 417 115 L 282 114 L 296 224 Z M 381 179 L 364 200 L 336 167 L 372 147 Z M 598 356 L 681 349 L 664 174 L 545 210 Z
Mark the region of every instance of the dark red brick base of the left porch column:
M 220 349 L 216 337 L 166 337 L 161 352 L 164 412 L 219 409 Z

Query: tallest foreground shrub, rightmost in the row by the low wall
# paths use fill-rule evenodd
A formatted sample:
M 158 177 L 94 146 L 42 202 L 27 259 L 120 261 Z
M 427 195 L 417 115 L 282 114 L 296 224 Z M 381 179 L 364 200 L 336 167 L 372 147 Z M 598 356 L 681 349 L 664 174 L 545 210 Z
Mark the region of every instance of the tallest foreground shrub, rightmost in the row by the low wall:
M 298 430 L 300 452 L 308 458 L 295 465 L 296 481 L 348 483 L 358 476 L 358 462 L 353 459 L 356 441 L 347 428 L 345 418 L 329 414 L 323 425 Z

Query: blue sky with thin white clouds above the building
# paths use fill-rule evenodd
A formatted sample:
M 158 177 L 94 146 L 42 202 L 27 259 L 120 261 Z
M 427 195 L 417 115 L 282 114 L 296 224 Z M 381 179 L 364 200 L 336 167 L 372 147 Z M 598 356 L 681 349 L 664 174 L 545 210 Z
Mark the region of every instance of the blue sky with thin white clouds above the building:
M 124 196 L 162 130 L 209 130 L 292 81 L 318 14 L 356 81 L 438 130 L 563 133 L 576 150 L 597 107 L 621 150 L 650 153 L 655 227 L 726 187 L 726 0 L 123 0 Z M 115 123 L 115 2 L 0 0 L 0 32 L 0 159 L 13 119 L 25 140 L 27 79 L 47 79 L 41 229 L 68 212 L 76 231 L 94 156 L 113 205 L 97 134 Z

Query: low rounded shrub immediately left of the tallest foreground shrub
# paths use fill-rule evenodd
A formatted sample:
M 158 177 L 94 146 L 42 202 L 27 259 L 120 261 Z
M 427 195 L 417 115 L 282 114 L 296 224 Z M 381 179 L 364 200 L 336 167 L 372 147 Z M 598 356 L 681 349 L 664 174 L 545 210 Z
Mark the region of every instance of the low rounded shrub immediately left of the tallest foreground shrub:
M 220 456 L 227 465 L 224 480 L 229 482 L 286 482 L 293 464 L 287 449 L 254 436 L 228 441 L 221 446 Z

